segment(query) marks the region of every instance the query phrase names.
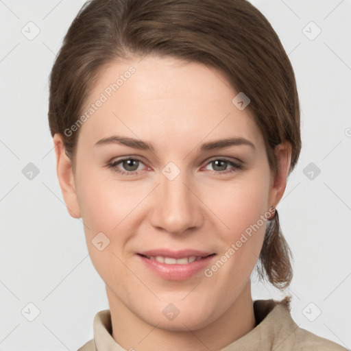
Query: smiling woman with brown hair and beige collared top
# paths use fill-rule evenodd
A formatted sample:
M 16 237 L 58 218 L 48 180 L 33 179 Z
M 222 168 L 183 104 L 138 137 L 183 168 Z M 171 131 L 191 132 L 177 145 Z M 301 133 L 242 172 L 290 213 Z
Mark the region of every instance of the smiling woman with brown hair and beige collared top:
M 250 275 L 292 278 L 278 211 L 301 149 L 289 58 L 245 0 L 93 0 L 51 72 L 49 125 L 109 310 L 80 350 L 346 350 Z

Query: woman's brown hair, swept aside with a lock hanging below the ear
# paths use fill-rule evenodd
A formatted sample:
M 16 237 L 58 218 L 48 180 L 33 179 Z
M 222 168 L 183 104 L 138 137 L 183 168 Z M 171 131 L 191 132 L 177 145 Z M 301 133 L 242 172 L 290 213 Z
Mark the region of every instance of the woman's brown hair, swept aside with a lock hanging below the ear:
M 104 65 L 147 54 L 173 56 L 219 69 L 232 87 L 250 98 L 254 121 L 265 140 L 272 175 L 274 147 L 289 141 L 293 170 L 301 149 L 300 106 L 295 75 L 265 16 L 246 0 L 92 0 L 64 37 L 50 75 L 49 127 L 62 134 L 73 171 L 79 129 L 64 131 L 82 114 Z M 278 289 L 292 278 L 289 245 L 278 212 L 267 222 L 258 261 Z

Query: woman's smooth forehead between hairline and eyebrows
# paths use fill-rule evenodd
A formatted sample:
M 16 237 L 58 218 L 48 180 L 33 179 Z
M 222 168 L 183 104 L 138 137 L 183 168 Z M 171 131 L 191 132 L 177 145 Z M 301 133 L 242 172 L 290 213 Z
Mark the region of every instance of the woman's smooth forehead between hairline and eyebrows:
M 112 62 L 91 88 L 80 133 L 91 143 L 115 132 L 177 145 L 232 136 L 259 145 L 250 110 L 232 102 L 238 93 L 218 70 L 196 62 L 158 56 Z

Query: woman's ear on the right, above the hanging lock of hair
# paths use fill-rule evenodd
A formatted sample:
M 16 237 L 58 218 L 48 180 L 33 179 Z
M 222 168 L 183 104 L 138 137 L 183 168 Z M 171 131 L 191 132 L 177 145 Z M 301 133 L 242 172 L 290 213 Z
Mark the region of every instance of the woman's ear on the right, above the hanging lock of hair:
M 278 162 L 278 173 L 271 180 L 268 207 L 276 207 L 285 192 L 291 162 L 291 143 L 289 141 L 280 143 L 276 146 L 274 152 Z

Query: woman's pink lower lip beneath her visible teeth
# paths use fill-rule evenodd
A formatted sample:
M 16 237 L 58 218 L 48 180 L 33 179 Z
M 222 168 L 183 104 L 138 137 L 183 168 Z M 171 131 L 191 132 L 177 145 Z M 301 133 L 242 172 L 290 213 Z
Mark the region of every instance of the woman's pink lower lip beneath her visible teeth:
M 199 271 L 204 271 L 206 266 L 215 257 L 215 255 L 207 256 L 199 261 L 186 263 L 186 265 L 167 265 L 167 263 L 160 263 L 156 260 L 151 260 L 145 256 L 137 255 L 144 265 L 153 271 L 157 276 L 166 280 L 185 280 L 189 279 Z

